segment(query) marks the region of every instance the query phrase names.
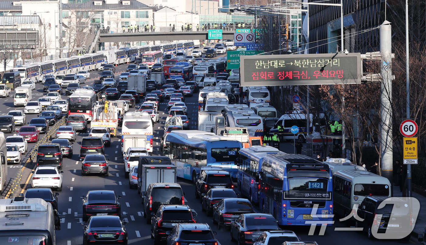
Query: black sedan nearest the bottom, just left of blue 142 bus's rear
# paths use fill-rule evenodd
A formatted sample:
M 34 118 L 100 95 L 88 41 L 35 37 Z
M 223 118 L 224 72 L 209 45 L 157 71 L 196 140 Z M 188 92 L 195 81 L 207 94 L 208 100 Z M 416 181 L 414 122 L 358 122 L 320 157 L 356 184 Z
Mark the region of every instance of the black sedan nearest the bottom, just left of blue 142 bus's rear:
M 264 231 L 281 230 L 271 214 L 242 214 L 231 223 L 231 241 L 253 244 Z

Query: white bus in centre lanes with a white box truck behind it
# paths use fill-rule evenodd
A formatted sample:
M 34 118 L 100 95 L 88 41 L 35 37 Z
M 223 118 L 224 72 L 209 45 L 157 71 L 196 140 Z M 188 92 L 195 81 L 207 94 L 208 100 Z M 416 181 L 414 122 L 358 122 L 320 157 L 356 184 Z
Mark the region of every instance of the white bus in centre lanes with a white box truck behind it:
M 123 117 L 121 130 L 121 143 L 124 134 L 144 134 L 147 136 L 146 145 L 140 147 L 147 148 L 150 155 L 153 154 L 153 121 L 147 112 L 126 112 Z

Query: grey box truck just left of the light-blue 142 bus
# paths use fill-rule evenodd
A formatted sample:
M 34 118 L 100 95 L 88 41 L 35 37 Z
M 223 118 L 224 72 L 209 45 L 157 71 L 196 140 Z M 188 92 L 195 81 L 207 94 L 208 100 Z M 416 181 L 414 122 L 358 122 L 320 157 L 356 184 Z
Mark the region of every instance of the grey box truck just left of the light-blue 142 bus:
M 141 177 L 138 178 L 138 192 L 146 192 L 151 183 L 176 183 L 175 165 L 142 165 Z

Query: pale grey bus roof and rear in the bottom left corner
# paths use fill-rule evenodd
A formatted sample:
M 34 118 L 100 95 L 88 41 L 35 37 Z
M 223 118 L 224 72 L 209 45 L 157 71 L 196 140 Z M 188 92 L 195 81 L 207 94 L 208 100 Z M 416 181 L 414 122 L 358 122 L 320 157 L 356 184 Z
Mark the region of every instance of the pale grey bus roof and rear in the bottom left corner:
M 41 198 L 0 199 L 0 244 L 55 245 L 58 212 Z

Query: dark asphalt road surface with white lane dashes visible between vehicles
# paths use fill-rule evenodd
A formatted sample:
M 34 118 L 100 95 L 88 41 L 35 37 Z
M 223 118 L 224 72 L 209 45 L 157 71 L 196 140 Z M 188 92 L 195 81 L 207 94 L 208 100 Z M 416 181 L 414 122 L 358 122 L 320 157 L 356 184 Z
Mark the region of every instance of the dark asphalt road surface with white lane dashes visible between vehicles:
M 121 65 L 116 67 L 116 71 L 120 73 L 125 69 L 127 65 Z M 97 71 L 91 72 L 91 78 L 98 77 Z M 90 85 L 92 82 L 88 82 Z M 37 91 L 33 91 L 33 100 L 43 96 L 42 85 L 37 84 Z M 65 95 L 62 96 L 64 99 Z M 198 96 L 194 94 L 193 97 L 186 99 L 188 107 L 188 117 L 190 118 L 190 129 L 197 129 L 197 100 Z M 166 111 L 167 101 L 164 101 L 159 105 L 160 123 L 154 125 L 154 154 L 159 154 L 159 142 L 163 135 L 164 119 L 167 117 L 164 114 Z M 0 114 L 7 114 L 9 110 L 15 109 L 13 107 L 13 98 L 8 97 L 1 99 Z M 22 109 L 22 108 L 16 108 Z M 135 109 L 131 109 L 135 110 Z M 27 122 L 31 118 L 37 117 L 37 114 L 28 114 Z M 6 134 L 9 136 L 12 134 Z M 63 162 L 63 189 L 59 195 L 58 210 L 61 218 L 61 230 L 56 233 L 56 241 L 59 245 L 81 245 L 83 243 L 82 234 L 83 226 L 82 222 L 82 201 L 81 196 L 85 195 L 90 190 L 113 190 L 117 195 L 121 195 L 123 198 L 121 202 L 121 217 L 129 222 L 126 225 L 129 234 L 129 244 L 153 244 L 153 240 L 150 238 L 150 225 L 147 225 L 145 218 L 143 217 L 143 208 L 141 205 L 141 199 L 138 195 L 137 190 L 129 188 L 128 179 L 124 178 L 124 166 L 123 157 L 121 153 L 121 145 L 118 138 L 112 138 L 111 146 L 106 148 L 106 156 L 109 158 L 109 176 L 81 176 L 81 162 L 78 159 L 78 152 L 80 145 L 77 142 L 81 141 L 81 138 L 87 136 L 87 133 L 79 133 L 77 140 L 74 143 L 74 155 L 72 158 L 64 158 Z M 43 136 L 43 135 L 40 135 Z M 34 143 L 29 143 L 29 150 L 33 147 Z M 289 153 L 293 152 L 293 147 L 282 149 L 282 151 L 288 150 Z M 25 161 L 26 158 L 24 158 Z M 8 178 L 13 178 L 18 169 L 23 165 L 10 165 L 8 170 Z M 31 167 L 31 165 L 29 165 Z M 208 223 L 213 231 L 217 231 L 216 238 L 219 240 L 221 245 L 233 245 L 234 242 L 230 242 L 230 234 L 225 228 L 220 231 L 217 229 L 217 225 L 213 225 L 211 217 L 207 217 L 205 213 L 201 211 L 199 199 L 194 196 L 194 185 L 192 182 L 178 179 L 178 183 L 182 186 L 185 191 L 185 200 L 190 207 L 196 211 L 197 222 Z M 7 191 L 7 190 L 6 190 Z M 5 192 L 3 191 L 3 198 Z M 368 240 L 366 234 L 357 233 L 351 231 L 343 222 L 339 222 L 338 218 L 335 218 L 335 223 L 332 227 L 327 227 L 325 234 L 320 236 L 320 226 L 315 229 L 314 235 L 309 235 L 310 227 L 282 227 L 283 229 L 289 229 L 305 241 L 317 241 L 319 245 L 325 244 L 363 244 L 363 245 L 389 245 L 396 243 L 414 243 L 400 242 L 393 240 Z M 312 229 L 312 228 L 311 228 Z M 337 231 L 335 229 L 346 229 Z M 147 242 L 147 243 L 145 243 Z M 277 244 L 279 245 L 279 244 Z

